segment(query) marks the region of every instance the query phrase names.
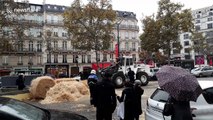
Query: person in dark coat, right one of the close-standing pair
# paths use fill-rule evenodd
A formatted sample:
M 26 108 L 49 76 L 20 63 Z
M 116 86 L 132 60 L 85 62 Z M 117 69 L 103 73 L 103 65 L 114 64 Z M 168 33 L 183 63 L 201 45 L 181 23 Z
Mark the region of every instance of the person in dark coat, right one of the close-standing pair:
M 135 90 L 135 114 L 134 119 L 139 120 L 139 116 L 142 114 L 142 106 L 141 106 L 141 96 L 144 93 L 143 88 L 141 88 L 141 81 L 135 80 L 134 82 L 134 90 Z

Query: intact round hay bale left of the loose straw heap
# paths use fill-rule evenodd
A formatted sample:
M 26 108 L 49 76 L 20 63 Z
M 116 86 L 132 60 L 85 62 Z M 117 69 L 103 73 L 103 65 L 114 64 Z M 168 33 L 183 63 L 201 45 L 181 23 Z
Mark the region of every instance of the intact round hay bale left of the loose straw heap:
M 55 85 L 52 77 L 42 76 L 32 80 L 31 87 L 29 89 L 32 98 L 44 99 L 47 91 Z

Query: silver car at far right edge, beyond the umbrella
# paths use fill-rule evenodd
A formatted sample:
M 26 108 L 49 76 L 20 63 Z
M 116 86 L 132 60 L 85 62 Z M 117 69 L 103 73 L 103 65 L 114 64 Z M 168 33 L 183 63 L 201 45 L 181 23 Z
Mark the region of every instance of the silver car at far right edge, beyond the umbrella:
M 196 77 L 213 76 L 213 67 L 211 66 L 198 67 L 192 69 L 191 73 Z

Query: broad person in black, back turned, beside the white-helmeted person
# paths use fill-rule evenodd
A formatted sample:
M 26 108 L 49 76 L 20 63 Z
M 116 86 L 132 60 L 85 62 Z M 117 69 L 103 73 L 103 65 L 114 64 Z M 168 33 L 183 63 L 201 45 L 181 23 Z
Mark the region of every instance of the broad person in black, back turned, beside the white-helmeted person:
M 115 87 L 110 78 L 111 74 L 105 72 L 102 81 L 96 85 L 94 94 L 96 120 L 112 120 L 112 113 L 117 104 Z

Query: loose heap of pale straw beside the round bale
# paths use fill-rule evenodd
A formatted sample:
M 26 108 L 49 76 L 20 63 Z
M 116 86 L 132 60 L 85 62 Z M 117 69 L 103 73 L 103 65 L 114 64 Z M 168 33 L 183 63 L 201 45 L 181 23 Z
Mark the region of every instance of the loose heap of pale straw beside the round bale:
M 89 89 L 81 82 L 61 81 L 49 89 L 41 104 L 77 101 L 88 94 Z

